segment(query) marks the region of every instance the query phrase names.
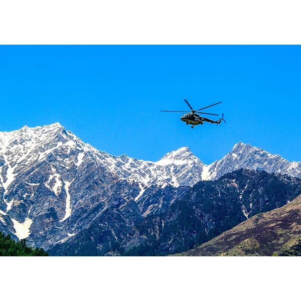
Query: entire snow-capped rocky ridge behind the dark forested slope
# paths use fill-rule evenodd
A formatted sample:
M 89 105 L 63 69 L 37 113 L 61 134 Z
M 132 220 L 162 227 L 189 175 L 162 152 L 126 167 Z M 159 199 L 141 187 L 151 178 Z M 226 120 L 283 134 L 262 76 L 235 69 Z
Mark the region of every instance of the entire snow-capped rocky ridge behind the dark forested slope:
M 47 249 L 74 239 L 81 227 L 108 210 L 124 219 L 127 229 L 143 214 L 160 211 L 162 206 L 156 205 L 147 214 L 140 212 L 149 207 L 140 198 L 151 187 L 157 198 L 156 189 L 171 186 L 185 191 L 186 186 L 204 180 L 204 175 L 206 180 L 214 180 L 248 166 L 297 174 L 299 163 L 289 168 L 290 163 L 280 156 L 273 162 L 276 155 L 248 145 L 237 143 L 222 160 L 206 166 L 188 147 L 174 150 L 158 162 L 111 156 L 59 123 L 0 132 L 0 230 Z M 266 157 L 271 158 L 268 166 L 264 165 Z M 243 164 L 238 164 L 239 160 Z M 167 198 L 167 204 L 171 203 Z M 109 249 L 119 230 L 117 226 L 103 229 L 109 231 L 104 245 Z

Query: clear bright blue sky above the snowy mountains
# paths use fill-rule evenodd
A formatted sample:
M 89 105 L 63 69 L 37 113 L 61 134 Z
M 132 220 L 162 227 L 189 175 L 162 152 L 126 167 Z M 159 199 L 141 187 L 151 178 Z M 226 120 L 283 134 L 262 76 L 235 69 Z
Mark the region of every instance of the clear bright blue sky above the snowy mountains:
M 301 161 L 300 46 L 0 46 L 0 130 L 60 122 L 112 155 L 157 161 L 189 146 L 204 163 L 238 141 Z M 187 110 L 223 103 L 227 124 Z

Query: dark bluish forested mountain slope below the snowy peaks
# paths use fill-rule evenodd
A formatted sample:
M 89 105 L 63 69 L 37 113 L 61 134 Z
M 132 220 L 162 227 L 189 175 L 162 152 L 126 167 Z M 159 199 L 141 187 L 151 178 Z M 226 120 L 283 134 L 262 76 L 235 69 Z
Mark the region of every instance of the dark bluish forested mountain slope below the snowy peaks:
M 130 205 L 111 205 L 53 255 L 168 255 L 189 250 L 248 217 L 301 194 L 301 180 L 239 170 L 192 188 L 150 187 Z M 119 207 L 118 207 L 119 206 Z

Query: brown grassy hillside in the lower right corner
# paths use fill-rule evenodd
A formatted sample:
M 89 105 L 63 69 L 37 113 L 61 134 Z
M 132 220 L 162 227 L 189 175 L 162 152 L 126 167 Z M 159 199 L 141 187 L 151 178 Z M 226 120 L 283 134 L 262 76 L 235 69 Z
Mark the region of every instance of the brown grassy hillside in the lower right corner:
M 285 254 L 301 237 L 301 195 L 287 205 L 260 213 L 183 256 L 271 256 Z

